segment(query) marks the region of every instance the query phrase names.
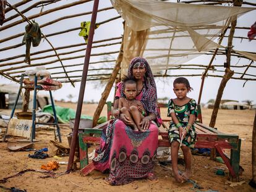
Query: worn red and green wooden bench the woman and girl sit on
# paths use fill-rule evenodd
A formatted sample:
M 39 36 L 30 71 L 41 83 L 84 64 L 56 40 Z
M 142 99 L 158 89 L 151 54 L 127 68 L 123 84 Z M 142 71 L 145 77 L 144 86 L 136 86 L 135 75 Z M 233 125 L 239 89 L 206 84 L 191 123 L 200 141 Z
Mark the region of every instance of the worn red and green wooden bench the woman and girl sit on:
M 167 107 L 168 104 L 158 104 L 159 107 Z M 100 143 L 100 134 L 102 128 L 108 126 L 109 120 L 113 118 L 113 104 L 107 102 L 108 106 L 108 122 L 102 123 L 95 128 L 85 128 L 84 133 L 79 133 L 79 152 L 80 152 L 80 169 L 83 175 L 87 175 L 88 172 L 93 170 L 93 164 L 88 164 L 88 143 Z M 200 106 L 198 110 L 200 114 Z M 200 116 L 201 117 L 201 116 Z M 163 127 L 168 129 L 170 120 L 163 119 Z M 218 131 L 216 128 L 211 128 L 203 125 L 200 122 L 195 123 L 195 131 L 197 138 L 195 141 L 195 148 L 210 148 L 211 159 L 216 159 L 216 151 L 222 157 L 224 163 L 229 169 L 231 179 L 239 179 L 239 162 L 240 162 L 240 150 L 241 150 L 241 139 L 238 135 L 225 134 Z M 88 136 L 88 134 L 94 134 Z M 169 147 L 168 132 L 160 131 L 159 135 L 161 139 L 158 140 L 158 146 Z M 230 158 L 224 154 L 223 149 L 231 149 Z M 86 167 L 85 167 L 86 166 Z

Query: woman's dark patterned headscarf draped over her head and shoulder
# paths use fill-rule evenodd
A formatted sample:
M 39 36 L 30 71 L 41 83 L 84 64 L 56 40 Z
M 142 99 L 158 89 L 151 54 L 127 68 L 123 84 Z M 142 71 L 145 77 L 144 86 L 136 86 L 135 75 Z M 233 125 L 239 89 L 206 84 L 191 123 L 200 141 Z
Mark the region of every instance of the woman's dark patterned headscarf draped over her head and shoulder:
M 142 102 L 144 109 L 148 113 L 153 113 L 156 115 L 156 123 L 158 124 L 158 126 L 160 126 L 161 117 L 157 107 L 156 83 L 153 77 L 153 73 L 150 69 L 150 65 L 143 57 L 135 57 L 134 59 L 132 59 L 132 61 L 130 61 L 128 69 L 129 77 L 133 77 L 132 69 L 134 69 L 135 67 L 145 67 L 146 69 L 144 76 L 144 86 L 142 89 L 142 99 L 140 101 Z M 125 97 L 123 86 L 121 89 L 121 97 Z

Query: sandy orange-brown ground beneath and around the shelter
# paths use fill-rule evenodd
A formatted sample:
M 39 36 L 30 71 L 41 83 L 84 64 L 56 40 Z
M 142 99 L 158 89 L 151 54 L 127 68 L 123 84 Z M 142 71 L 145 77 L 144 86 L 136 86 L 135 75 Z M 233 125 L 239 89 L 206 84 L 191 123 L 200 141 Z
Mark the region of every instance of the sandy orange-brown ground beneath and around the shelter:
M 57 103 L 59 106 L 70 107 L 76 109 L 76 104 L 73 103 Z M 83 106 L 82 114 L 93 116 L 95 104 L 87 104 Z M 0 111 L 3 112 L 3 111 Z M 9 113 L 10 111 L 4 111 Z M 161 110 L 164 117 L 166 109 Z M 101 115 L 106 115 L 106 107 Z M 211 109 L 203 109 L 203 123 L 208 125 L 211 117 Z M 224 133 L 236 133 L 239 138 L 242 138 L 241 149 L 241 166 L 244 172 L 240 181 L 244 181 L 242 185 L 235 187 L 229 186 L 228 169 L 226 165 L 220 162 L 211 161 L 209 157 L 192 156 L 192 179 L 200 186 L 201 190 L 194 190 L 191 183 L 177 184 L 172 176 L 171 165 L 160 167 L 155 165 L 155 173 L 159 178 L 158 183 L 149 183 L 147 180 L 137 180 L 133 183 L 124 186 L 109 186 L 103 182 L 103 179 L 108 175 L 94 171 L 89 176 L 83 177 L 79 170 L 62 175 L 67 169 L 67 165 L 60 165 L 59 169 L 54 171 L 59 173 L 56 177 L 45 177 L 45 173 L 26 172 L 18 177 L 9 178 L 6 183 L 1 183 L 0 186 L 8 188 L 16 187 L 27 191 L 256 191 L 247 183 L 252 178 L 252 126 L 255 111 L 228 111 L 220 110 L 216 126 L 218 130 Z M 4 131 L 4 129 L 2 129 Z M 67 126 L 61 127 L 62 144 L 68 146 L 66 136 L 70 133 L 70 128 Z M 43 128 L 36 131 L 36 139 L 40 140 L 34 144 L 35 149 L 49 147 L 49 141 L 54 140 L 53 130 Z M 10 138 L 9 140 L 17 140 Z M 90 149 L 92 150 L 92 149 Z M 7 150 L 7 143 L 0 143 L 0 180 L 11 175 L 15 175 L 21 170 L 35 169 L 40 170 L 41 165 L 49 161 L 67 162 L 68 157 L 62 159 L 54 159 L 49 157 L 46 159 L 32 159 L 28 154 L 33 154 L 33 151 L 18 151 L 11 152 Z M 226 173 L 225 176 L 216 175 L 216 169 L 222 168 Z M 180 165 L 180 169 L 184 169 Z M 0 191 L 2 189 L 0 188 Z M 4 191 L 4 190 L 2 190 Z

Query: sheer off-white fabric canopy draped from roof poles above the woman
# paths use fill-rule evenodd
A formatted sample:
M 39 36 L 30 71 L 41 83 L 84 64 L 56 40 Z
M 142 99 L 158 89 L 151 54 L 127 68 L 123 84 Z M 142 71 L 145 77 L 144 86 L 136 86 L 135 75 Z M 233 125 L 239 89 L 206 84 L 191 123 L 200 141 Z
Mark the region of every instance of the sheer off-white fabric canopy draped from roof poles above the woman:
M 111 0 L 126 20 L 124 60 L 127 72 L 130 59 L 145 57 L 153 72 L 184 64 L 220 46 L 214 40 L 236 16 L 252 7 L 207 6 L 149 0 Z M 255 54 L 236 51 L 256 61 Z

